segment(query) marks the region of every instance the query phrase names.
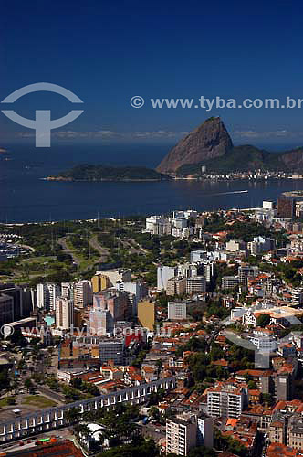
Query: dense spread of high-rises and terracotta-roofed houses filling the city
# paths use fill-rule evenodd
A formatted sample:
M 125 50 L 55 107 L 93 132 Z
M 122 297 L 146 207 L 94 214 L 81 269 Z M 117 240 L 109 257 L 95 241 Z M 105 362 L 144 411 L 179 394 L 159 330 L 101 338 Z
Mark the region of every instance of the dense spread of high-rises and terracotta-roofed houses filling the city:
M 91 273 L 1 284 L 0 375 L 23 386 L 17 409 L 31 395 L 26 386 L 55 405 L 114 395 L 107 408 L 136 399 L 128 427 L 162 452 L 223 451 L 225 442 L 237 452 L 223 456 L 298 455 L 303 222 L 269 201 L 147 219 L 120 221 L 120 230 L 112 222 L 114 258 Z M 67 420 L 78 437 L 82 417 L 73 428 Z M 98 447 L 101 431 L 88 427 L 85 442 Z

